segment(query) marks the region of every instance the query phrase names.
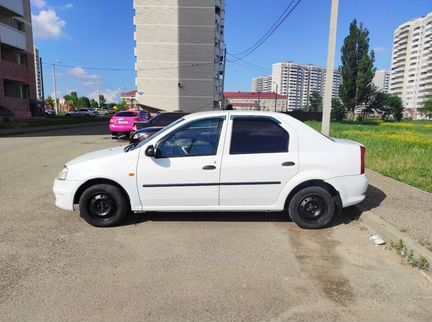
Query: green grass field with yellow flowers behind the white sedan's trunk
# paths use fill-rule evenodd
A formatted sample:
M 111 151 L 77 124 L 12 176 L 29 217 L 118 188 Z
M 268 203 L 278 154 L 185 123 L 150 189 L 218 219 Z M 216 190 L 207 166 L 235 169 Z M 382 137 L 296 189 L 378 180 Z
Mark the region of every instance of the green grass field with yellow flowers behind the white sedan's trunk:
M 367 168 L 432 192 L 432 122 L 332 123 L 330 136 L 363 143 Z

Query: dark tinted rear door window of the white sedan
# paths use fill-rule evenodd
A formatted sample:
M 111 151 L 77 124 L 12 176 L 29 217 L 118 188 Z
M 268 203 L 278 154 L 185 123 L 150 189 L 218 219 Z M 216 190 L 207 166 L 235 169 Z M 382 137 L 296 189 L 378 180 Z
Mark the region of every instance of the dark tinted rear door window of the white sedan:
M 234 117 L 230 154 L 288 152 L 289 134 L 264 117 Z

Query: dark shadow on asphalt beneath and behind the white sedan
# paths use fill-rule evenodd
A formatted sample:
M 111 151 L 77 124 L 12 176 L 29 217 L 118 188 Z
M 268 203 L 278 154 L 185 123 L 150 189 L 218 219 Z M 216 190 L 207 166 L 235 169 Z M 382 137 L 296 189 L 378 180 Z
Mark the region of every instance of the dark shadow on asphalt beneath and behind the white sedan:
M 362 207 L 370 210 L 378 207 L 386 194 L 375 186 L 369 185 Z M 347 225 L 357 221 L 363 211 L 360 207 L 344 208 L 335 216 L 327 228 Z M 138 225 L 149 221 L 201 221 L 201 222 L 291 222 L 286 212 L 148 212 L 131 213 L 122 226 Z

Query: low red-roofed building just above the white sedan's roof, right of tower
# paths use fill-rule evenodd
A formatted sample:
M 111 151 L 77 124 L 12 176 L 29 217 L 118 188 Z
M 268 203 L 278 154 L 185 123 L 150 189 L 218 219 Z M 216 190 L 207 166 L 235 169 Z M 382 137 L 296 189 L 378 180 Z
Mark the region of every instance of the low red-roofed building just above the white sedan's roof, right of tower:
M 286 111 L 286 95 L 261 92 L 225 92 L 224 106 L 235 110 Z

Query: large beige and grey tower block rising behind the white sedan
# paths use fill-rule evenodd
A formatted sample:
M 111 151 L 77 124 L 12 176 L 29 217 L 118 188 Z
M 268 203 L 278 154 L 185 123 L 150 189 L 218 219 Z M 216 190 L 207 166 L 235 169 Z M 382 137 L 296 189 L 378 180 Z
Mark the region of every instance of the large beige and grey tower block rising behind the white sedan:
M 166 111 L 220 108 L 225 0 L 134 0 L 141 104 Z

